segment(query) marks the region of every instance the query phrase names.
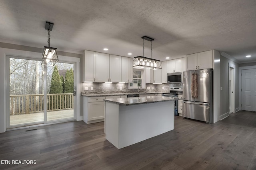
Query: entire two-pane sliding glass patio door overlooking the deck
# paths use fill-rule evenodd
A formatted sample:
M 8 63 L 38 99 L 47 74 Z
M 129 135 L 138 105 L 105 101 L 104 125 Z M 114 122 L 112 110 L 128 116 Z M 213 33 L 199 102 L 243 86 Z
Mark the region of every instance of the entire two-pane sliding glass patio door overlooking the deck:
M 9 127 L 75 119 L 74 64 L 8 57 Z

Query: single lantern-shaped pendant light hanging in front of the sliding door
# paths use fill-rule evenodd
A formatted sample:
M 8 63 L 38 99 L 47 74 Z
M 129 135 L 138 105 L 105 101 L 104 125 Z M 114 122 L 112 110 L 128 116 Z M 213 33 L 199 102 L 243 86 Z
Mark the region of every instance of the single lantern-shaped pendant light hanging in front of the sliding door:
M 45 29 L 48 30 L 48 46 L 44 46 L 42 65 L 54 66 L 58 62 L 57 48 L 50 47 L 50 31 L 52 31 L 53 23 L 46 21 Z

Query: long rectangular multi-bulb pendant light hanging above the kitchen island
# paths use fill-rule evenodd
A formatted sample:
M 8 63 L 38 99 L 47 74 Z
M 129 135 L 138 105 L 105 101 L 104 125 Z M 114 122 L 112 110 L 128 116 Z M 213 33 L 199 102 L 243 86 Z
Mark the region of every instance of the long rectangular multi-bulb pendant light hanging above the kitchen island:
M 154 41 L 154 39 L 147 36 L 143 36 L 141 38 L 143 39 L 143 57 L 142 56 L 134 57 L 133 66 L 140 67 L 140 68 L 149 68 L 153 70 L 162 69 L 160 60 L 152 59 L 152 41 Z M 151 41 L 151 59 L 144 57 L 144 40 L 145 39 L 147 41 Z

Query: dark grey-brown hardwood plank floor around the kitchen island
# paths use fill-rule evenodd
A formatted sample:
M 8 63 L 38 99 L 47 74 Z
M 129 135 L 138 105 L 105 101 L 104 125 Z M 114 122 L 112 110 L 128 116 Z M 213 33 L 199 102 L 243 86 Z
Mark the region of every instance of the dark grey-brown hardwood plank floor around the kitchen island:
M 256 169 L 254 112 L 239 111 L 210 125 L 176 116 L 173 131 L 120 150 L 106 141 L 103 122 L 74 121 L 37 129 L 0 133 L 0 163 L 36 160 L 0 164 L 0 169 Z

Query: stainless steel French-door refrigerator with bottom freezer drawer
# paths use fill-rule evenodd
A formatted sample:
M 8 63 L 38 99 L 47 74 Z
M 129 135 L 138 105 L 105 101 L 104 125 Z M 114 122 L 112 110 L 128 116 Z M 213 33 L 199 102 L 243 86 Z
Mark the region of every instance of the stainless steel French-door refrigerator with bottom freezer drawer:
M 183 98 L 183 117 L 212 123 L 212 69 L 184 71 Z

